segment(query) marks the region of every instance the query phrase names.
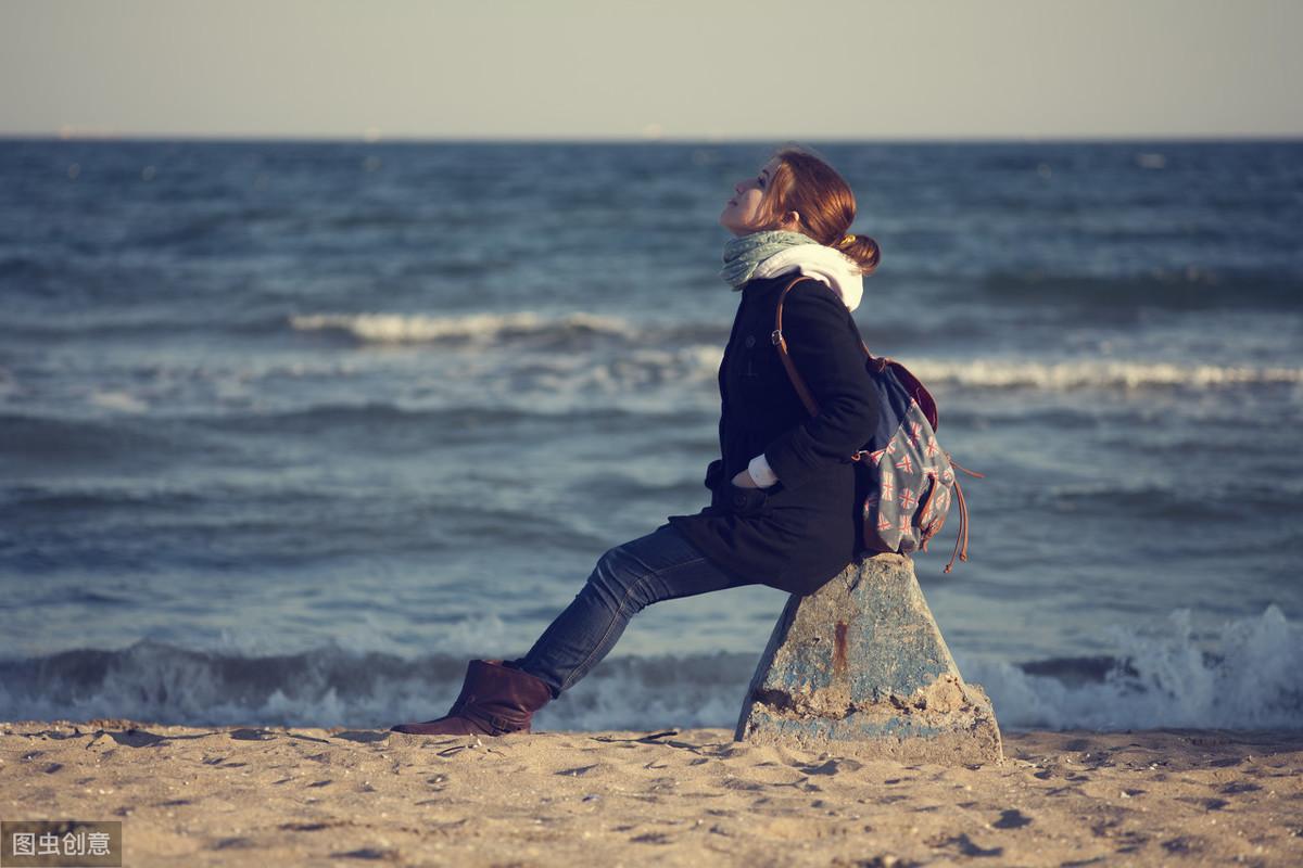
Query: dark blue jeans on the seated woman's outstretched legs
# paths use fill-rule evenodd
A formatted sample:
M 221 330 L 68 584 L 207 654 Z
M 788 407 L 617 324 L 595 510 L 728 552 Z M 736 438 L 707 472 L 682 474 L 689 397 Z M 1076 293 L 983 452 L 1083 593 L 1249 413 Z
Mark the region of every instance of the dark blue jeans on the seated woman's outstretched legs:
M 607 655 L 645 606 L 744 584 L 754 582 L 726 575 L 666 523 L 598 558 L 588 583 L 529 653 L 506 662 L 541 678 L 555 699 Z

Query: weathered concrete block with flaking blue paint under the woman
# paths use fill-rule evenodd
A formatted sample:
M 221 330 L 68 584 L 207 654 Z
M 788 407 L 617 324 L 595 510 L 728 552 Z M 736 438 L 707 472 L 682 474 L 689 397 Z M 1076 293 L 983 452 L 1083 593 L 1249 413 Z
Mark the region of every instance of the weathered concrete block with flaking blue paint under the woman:
M 909 763 L 1001 763 L 990 699 L 959 675 L 913 562 L 851 563 L 774 625 L 734 740 Z

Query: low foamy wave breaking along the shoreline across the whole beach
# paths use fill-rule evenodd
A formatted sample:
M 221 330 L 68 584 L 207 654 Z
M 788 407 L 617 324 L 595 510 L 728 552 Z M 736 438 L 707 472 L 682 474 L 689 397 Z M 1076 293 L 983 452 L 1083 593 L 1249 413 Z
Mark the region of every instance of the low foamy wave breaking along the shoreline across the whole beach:
M 453 645 L 472 644 L 450 625 Z M 469 631 L 469 632 L 468 632 Z M 493 632 L 490 630 L 490 632 Z M 1188 609 L 1151 630 L 1105 629 L 1111 653 L 1014 664 L 960 657 L 1007 729 L 1303 726 L 1303 635 L 1276 605 L 1196 632 Z M 483 635 L 474 644 L 486 644 Z M 0 661 L 0 720 L 387 727 L 452 703 L 466 657 L 444 643 L 412 660 L 337 643 L 296 653 L 142 640 Z M 539 730 L 726 726 L 760 655 L 612 656 L 545 707 Z

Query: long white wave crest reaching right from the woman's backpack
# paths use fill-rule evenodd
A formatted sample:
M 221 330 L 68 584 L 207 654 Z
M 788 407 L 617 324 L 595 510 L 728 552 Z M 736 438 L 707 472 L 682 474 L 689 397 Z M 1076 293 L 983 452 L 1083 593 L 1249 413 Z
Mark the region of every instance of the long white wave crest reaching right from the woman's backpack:
M 1018 359 L 904 359 L 928 385 L 985 389 L 1225 389 L 1240 385 L 1296 385 L 1303 368 L 1174 362 L 1033 362 Z

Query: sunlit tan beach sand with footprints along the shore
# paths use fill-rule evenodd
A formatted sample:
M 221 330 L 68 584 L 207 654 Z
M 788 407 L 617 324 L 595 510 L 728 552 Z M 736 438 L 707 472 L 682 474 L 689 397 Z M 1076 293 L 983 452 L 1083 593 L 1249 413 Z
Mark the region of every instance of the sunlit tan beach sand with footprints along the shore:
M 0 819 L 124 865 L 1299 865 L 1303 731 L 1005 733 L 980 768 L 534 733 L 0 724 Z

